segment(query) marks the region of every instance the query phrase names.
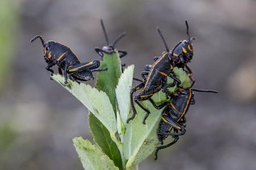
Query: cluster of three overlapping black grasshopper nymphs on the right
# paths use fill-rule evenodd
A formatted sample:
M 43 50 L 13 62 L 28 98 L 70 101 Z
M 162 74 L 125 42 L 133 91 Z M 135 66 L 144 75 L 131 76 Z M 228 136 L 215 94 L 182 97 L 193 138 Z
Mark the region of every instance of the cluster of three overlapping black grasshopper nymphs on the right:
M 158 139 L 161 145 L 163 145 L 163 139 L 166 139 L 168 136 L 173 137 L 174 141 L 168 145 L 157 147 L 155 151 L 155 160 L 158 159 L 159 150 L 174 145 L 174 143 L 178 141 L 179 136 L 185 134 L 185 114 L 188 111 L 189 105 L 195 104 L 192 91 L 218 93 L 214 90 L 199 90 L 192 88 L 195 80 L 192 78 L 192 71 L 188 67 L 187 63 L 190 62 L 193 57 L 192 40 L 195 40 L 195 38 L 191 38 L 189 35 L 187 20 L 185 21 L 185 24 L 187 26 L 188 40 L 183 40 L 177 43 L 171 52 L 166 41 L 164 40 L 162 32 L 160 32 L 160 29 L 157 28 L 167 52 L 163 52 L 161 57 L 155 57 L 155 62 L 152 65 L 146 65 L 146 71 L 142 72 L 143 80 L 135 79 L 141 81 L 141 83 L 131 90 L 131 108 L 133 109 L 133 116 L 129 118 L 127 122 L 133 120 L 137 114 L 133 104 L 133 94 L 135 91 L 138 91 L 141 88 L 142 91 L 137 96 L 135 96 L 134 101 L 146 112 L 143 124 L 146 124 L 146 118 L 150 114 L 150 111 L 144 108 L 143 105 L 139 103 L 139 101 L 149 100 L 156 109 L 162 109 L 165 107 L 162 113 L 162 120 L 159 124 Z M 174 67 L 180 67 L 186 71 L 192 82 L 189 88 L 183 88 L 179 86 L 181 81 L 176 78 L 174 73 L 172 73 Z M 174 79 L 174 83 L 168 85 L 167 76 Z M 171 94 L 168 91 L 168 88 L 174 87 L 175 85 L 177 85 L 179 89 Z M 170 102 L 164 102 L 160 105 L 156 105 L 154 103 L 151 97 L 160 90 L 162 90 L 168 97 L 170 97 Z M 172 129 L 174 132 L 172 132 Z

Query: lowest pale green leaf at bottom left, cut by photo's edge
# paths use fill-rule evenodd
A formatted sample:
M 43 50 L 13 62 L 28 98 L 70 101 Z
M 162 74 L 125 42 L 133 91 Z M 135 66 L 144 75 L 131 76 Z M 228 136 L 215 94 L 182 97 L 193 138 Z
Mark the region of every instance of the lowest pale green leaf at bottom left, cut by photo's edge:
M 117 169 L 112 160 L 105 155 L 100 148 L 92 145 L 90 141 L 80 138 L 73 139 L 74 146 L 76 148 L 77 154 L 82 162 L 82 167 L 84 169 Z

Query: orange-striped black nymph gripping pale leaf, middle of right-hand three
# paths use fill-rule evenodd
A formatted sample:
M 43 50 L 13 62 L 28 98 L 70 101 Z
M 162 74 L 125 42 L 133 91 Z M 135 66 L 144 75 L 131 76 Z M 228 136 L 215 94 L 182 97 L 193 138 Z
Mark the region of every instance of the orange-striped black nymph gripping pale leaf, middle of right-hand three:
M 133 116 L 130 117 L 127 120 L 127 122 L 129 122 L 130 120 L 133 120 L 133 118 L 137 114 L 137 111 L 133 103 L 133 94 L 135 91 L 142 89 L 142 91 L 135 96 L 134 101 L 139 105 L 139 107 L 143 109 L 143 111 L 147 113 L 143 120 L 143 124 L 146 124 L 146 119 L 150 114 L 150 111 L 144 108 L 143 105 L 139 103 L 139 101 L 150 99 L 152 95 L 156 94 L 160 90 L 168 94 L 169 87 L 174 87 L 176 84 L 177 86 L 179 86 L 179 84 L 181 83 L 181 81 L 177 79 L 176 76 L 172 73 L 172 70 L 174 69 L 174 66 L 175 66 L 174 57 L 172 56 L 173 54 L 170 52 L 168 45 L 164 40 L 162 32 L 160 31 L 159 28 L 157 28 L 157 30 L 164 42 L 164 46 L 166 47 L 167 52 L 163 52 L 161 57 L 154 58 L 155 62 L 152 65 L 150 65 L 150 67 L 146 67 L 146 71 L 142 71 L 142 74 L 141 74 L 143 78 L 143 80 L 141 81 L 142 83 L 131 90 L 130 99 L 131 99 L 131 108 L 133 109 Z M 174 79 L 174 83 L 167 84 L 167 76 Z

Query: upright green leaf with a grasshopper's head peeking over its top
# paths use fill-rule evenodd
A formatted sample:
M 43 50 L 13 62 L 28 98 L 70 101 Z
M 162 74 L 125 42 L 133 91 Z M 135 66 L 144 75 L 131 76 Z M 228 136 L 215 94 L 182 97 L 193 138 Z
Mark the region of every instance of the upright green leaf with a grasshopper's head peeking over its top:
M 98 73 L 96 88 L 106 92 L 116 113 L 114 90 L 122 73 L 119 54 L 116 51 L 113 54 L 104 54 L 100 67 L 108 68 L 108 71 Z

